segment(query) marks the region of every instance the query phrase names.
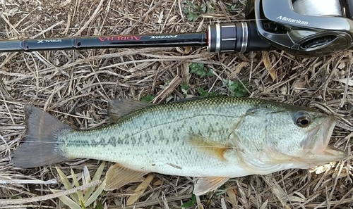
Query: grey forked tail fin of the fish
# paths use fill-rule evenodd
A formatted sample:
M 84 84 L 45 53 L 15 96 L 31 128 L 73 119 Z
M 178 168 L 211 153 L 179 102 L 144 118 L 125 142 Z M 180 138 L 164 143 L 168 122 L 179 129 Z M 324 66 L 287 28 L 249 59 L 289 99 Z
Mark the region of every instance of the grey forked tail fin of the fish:
M 25 106 L 27 138 L 13 155 L 16 167 L 39 167 L 68 160 L 61 148 L 59 134 L 64 129 L 72 129 L 49 113 Z

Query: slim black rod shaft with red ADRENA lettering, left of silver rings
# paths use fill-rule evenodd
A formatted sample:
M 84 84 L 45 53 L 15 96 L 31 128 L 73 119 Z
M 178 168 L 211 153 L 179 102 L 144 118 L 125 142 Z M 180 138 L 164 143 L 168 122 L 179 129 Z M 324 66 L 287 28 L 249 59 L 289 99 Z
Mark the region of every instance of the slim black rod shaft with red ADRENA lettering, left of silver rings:
M 1 40 L 0 52 L 206 45 L 207 34 L 205 32 L 181 34 L 128 34 L 97 37 Z

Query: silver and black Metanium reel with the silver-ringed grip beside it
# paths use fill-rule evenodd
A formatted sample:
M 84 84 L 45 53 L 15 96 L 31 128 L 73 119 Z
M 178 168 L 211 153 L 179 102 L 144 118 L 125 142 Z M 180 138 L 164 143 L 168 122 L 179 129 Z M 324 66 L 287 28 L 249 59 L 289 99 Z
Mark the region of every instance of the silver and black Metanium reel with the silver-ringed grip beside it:
M 353 48 L 353 0 L 248 0 L 245 13 L 255 21 L 237 23 L 243 41 L 235 51 L 274 46 L 296 56 L 323 56 Z M 229 50 L 228 27 L 210 25 L 209 37 L 220 41 L 208 42 L 209 51 Z M 217 33 L 227 35 L 226 41 Z

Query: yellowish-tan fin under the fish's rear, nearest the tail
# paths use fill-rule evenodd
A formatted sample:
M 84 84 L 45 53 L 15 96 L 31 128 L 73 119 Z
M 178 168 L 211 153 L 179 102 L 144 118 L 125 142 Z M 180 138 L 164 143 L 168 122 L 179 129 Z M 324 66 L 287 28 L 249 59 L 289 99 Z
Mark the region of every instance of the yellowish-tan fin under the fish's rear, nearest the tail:
M 140 182 L 142 177 L 146 174 L 148 174 L 148 172 L 131 170 L 130 168 L 123 167 L 119 165 L 119 163 L 116 163 L 109 167 L 107 171 L 107 175 L 105 176 L 107 183 L 104 190 L 112 191 L 131 182 Z

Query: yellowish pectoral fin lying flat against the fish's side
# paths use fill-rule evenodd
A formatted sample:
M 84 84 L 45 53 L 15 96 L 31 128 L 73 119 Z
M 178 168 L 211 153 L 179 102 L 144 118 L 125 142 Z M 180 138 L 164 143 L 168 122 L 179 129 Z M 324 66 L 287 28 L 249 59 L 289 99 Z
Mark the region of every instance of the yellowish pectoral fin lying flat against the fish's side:
M 221 144 L 217 141 L 207 139 L 200 134 L 191 134 L 188 142 L 191 144 L 191 146 L 196 148 L 196 150 L 207 153 L 208 155 L 214 156 L 220 160 L 226 160 L 225 152 L 232 149 L 230 144 Z

